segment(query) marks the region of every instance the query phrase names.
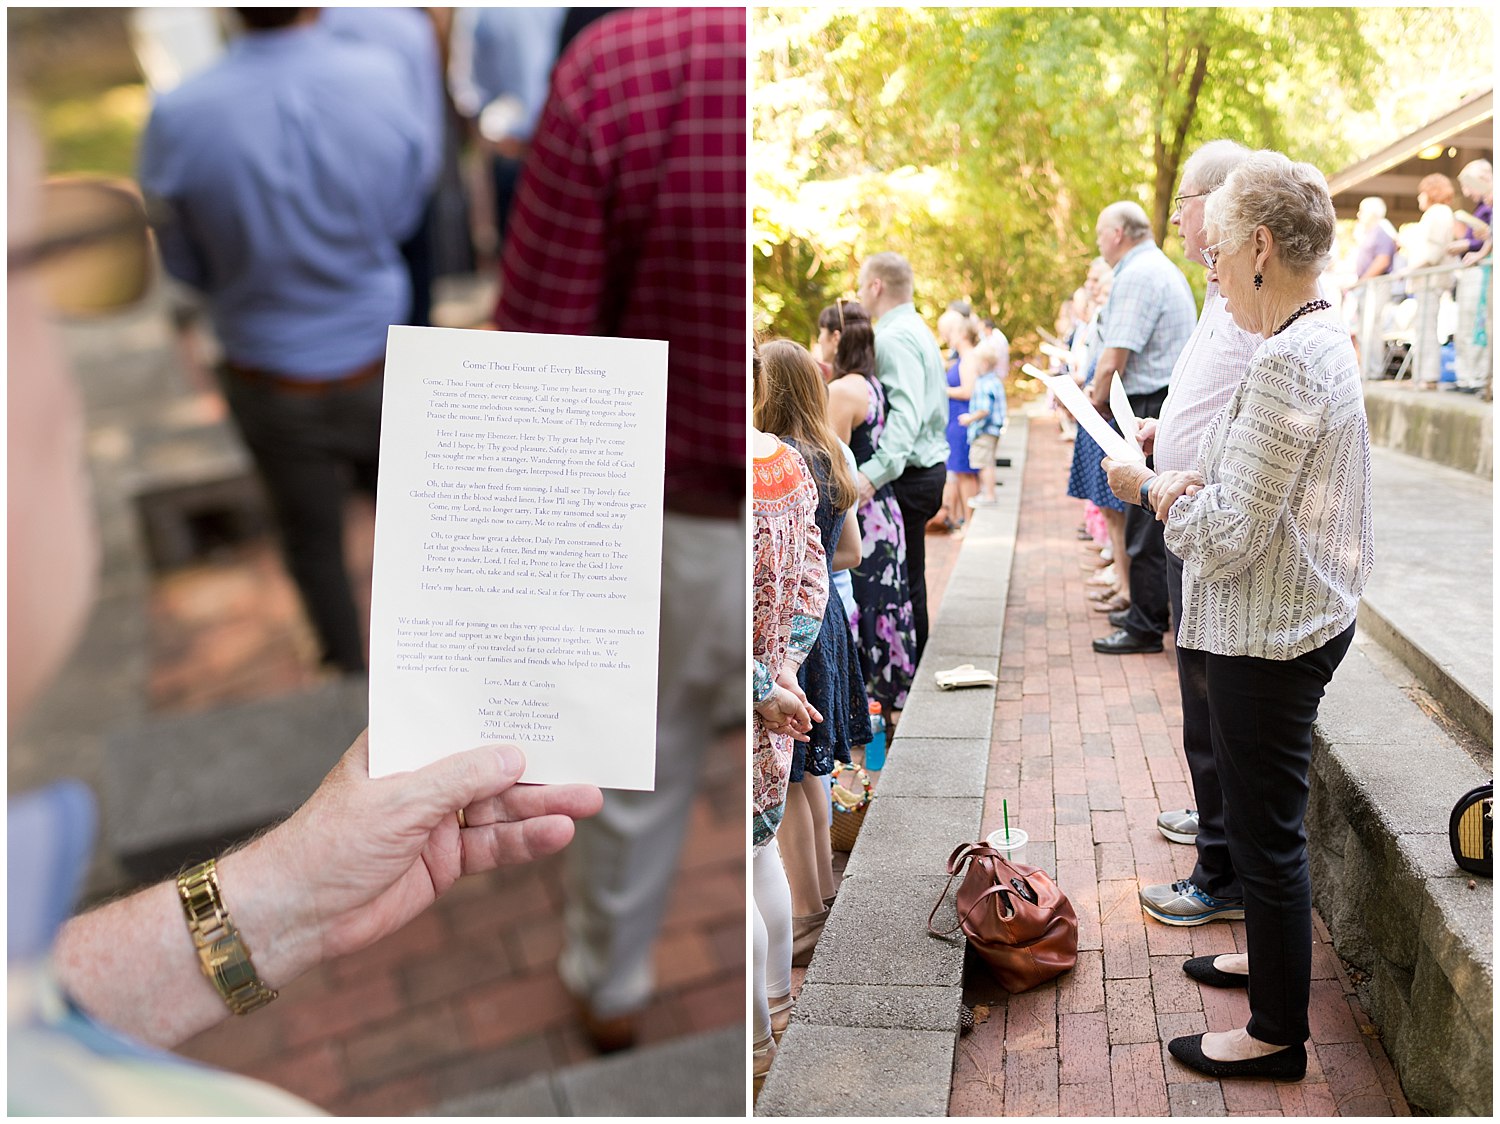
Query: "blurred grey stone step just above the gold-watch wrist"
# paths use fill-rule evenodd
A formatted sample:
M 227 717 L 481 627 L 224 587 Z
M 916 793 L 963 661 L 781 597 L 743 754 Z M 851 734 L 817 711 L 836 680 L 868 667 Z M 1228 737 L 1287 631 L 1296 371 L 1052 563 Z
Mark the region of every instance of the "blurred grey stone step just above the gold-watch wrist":
M 174 873 L 300 806 L 364 728 L 369 684 L 148 717 L 105 746 L 105 843 L 140 881 Z

